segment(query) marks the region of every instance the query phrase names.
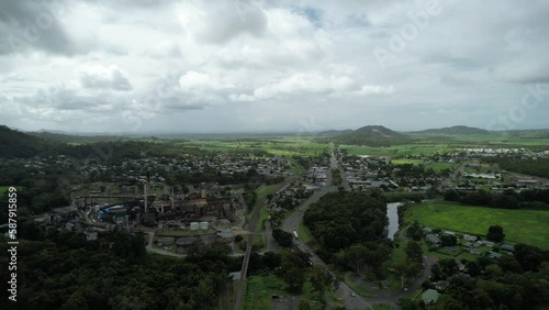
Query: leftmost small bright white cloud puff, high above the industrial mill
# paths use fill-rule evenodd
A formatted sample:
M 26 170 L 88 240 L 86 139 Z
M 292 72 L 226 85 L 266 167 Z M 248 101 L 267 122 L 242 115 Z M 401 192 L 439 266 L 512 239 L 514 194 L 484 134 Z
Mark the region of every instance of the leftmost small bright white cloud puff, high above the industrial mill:
M 132 85 L 117 66 L 82 66 L 78 69 L 80 84 L 85 88 L 91 89 L 113 89 L 127 91 L 132 90 Z

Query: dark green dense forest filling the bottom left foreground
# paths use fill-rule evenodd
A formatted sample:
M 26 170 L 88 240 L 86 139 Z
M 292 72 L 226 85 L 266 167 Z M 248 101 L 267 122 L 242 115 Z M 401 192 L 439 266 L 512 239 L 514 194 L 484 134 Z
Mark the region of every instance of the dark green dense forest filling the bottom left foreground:
M 228 272 L 242 264 L 221 244 L 197 243 L 183 259 L 146 254 L 141 234 L 86 241 L 31 220 L 19 225 L 18 302 L 3 298 L 1 309 L 216 309 L 231 289 Z M 7 255 L 0 261 L 8 266 Z M 1 268 L 1 278 L 8 273 Z

